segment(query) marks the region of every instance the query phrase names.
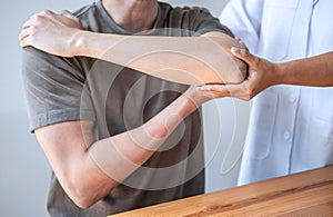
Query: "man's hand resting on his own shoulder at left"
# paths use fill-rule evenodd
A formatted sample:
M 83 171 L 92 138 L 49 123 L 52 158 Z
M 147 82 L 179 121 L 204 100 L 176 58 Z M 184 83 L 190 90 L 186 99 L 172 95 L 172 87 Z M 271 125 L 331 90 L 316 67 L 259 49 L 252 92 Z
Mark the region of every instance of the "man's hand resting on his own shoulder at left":
M 23 24 L 19 40 L 22 48 L 32 46 L 52 55 L 73 57 L 75 36 L 80 29 L 80 20 L 69 11 L 58 14 L 44 10 L 32 16 Z

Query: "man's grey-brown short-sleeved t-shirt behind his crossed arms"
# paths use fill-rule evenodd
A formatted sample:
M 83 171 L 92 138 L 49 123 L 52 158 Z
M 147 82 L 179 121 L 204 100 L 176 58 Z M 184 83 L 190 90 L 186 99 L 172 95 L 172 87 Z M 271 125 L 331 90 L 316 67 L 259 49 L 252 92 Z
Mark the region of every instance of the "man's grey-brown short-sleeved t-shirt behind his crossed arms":
M 85 30 L 130 34 L 112 20 L 100 0 L 74 14 Z M 159 3 L 154 28 L 145 34 L 192 37 L 209 31 L 225 32 L 208 12 Z M 62 58 L 33 48 L 24 49 L 22 73 L 32 131 L 57 122 L 89 119 L 94 121 L 95 140 L 141 126 L 188 89 L 105 61 Z M 107 216 L 202 194 L 201 126 L 198 110 L 183 120 L 141 168 L 88 209 L 77 207 L 52 175 L 50 215 Z

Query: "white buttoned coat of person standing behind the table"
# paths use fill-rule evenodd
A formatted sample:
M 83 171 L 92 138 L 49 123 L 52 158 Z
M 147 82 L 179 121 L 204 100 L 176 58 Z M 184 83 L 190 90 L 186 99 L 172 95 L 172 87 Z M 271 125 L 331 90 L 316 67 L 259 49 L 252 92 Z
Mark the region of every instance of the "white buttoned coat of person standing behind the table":
M 333 51 L 332 17 L 332 0 L 230 0 L 220 21 L 280 62 Z M 239 185 L 332 164 L 333 88 L 274 86 L 253 99 Z

